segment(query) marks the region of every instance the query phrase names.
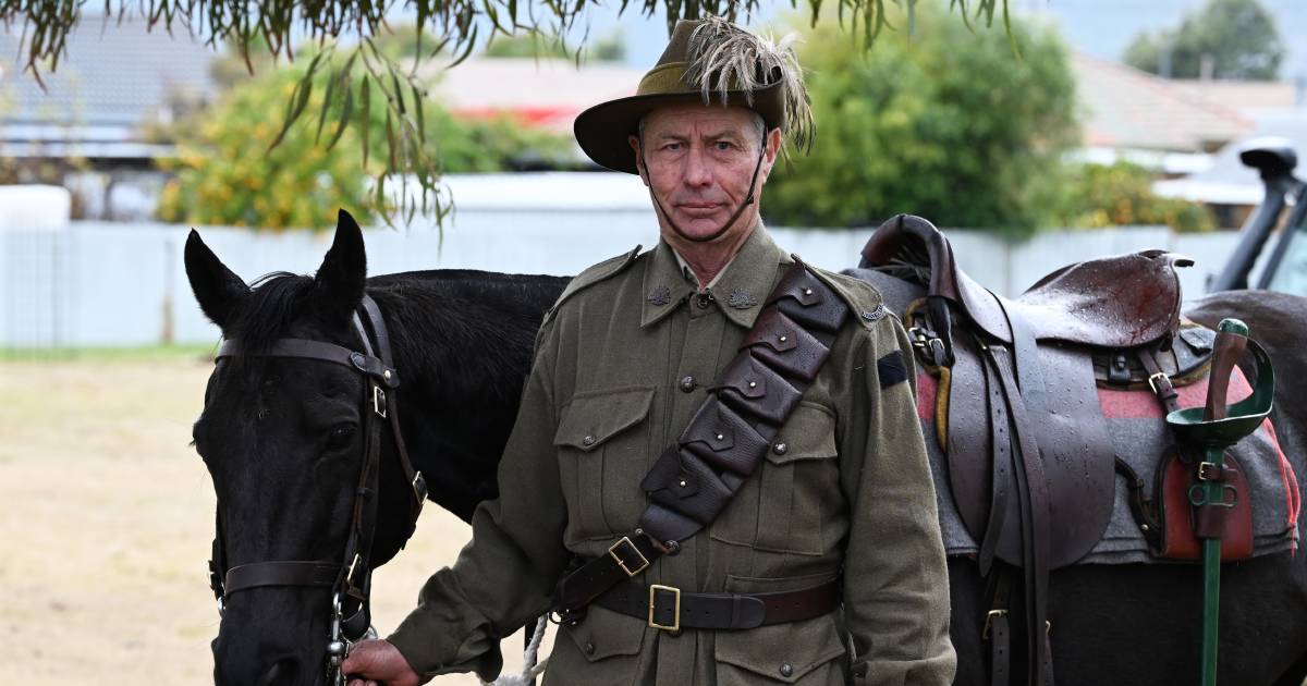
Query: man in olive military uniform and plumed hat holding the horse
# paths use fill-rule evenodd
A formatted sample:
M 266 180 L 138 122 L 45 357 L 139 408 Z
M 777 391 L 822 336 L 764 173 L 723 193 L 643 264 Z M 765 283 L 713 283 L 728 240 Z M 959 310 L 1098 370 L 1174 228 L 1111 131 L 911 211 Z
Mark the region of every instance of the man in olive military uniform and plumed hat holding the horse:
M 491 679 L 499 640 L 549 609 L 578 562 L 605 557 L 631 575 L 622 592 L 635 602 L 609 595 L 565 613 L 546 685 L 953 679 L 911 348 L 863 282 L 813 270 L 850 312 L 825 365 L 720 516 L 631 562 L 643 558 L 630 542 L 650 502 L 642 477 L 716 391 L 793 263 L 758 200 L 783 137 L 810 135 L 806 102 L 787 47 L 710 18 L 676 26 L 637 95 L 578 118 L 591 158 L 650 188 L 661 240 L 587 269 L 549 311 L 501 498 L 481 504 L 472 542 L 399 630 L 354 648 L 350 683 Z M 657 615 L 639 605 L 646 592 Z M 762 626 L 738 609 L 693 617 L 782 597 L 789 610 Z M 721 629 L 686 629 L 695 622 Z

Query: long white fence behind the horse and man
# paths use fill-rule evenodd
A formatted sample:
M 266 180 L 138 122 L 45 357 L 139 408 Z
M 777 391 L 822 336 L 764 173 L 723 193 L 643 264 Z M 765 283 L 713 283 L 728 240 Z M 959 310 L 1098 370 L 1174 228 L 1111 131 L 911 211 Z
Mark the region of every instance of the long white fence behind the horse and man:
M 191 295 L 182 264 L 188 227 L 73 222 L 63 231 L 0 231 L 0 348 L 48 349 L 204 344 L 218 337 Z M 201 229 L 204 240 L 238 274 L 308 273 L 331 234 L 255 234 Z M 778 243 L 829 269 L 857 263 L 870 229 L 772 229 Z M 1008 243 L 979 231 L 950 230 L 961 267 L 996 291 L 1013 294 L 1053 267 L 1144 248 L 1199 260 L 1184 273 L 1187 297 L 1204 293 L 1235 234 L 1176 235 L 1167 229 L 1057 231 Z M 572 274 L 588 264 L 657 239 L 648 209 L 489 209 L 463 205 L 443 242 L 434 229 L 366 233 L 369 272 L 473 268 Z

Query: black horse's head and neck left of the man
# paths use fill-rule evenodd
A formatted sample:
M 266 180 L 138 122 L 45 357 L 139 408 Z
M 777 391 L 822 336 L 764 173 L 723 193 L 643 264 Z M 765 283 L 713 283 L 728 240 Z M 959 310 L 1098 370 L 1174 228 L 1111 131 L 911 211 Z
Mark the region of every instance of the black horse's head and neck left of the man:
M 286 337 L 362 350 L 352 316 L 366 291 L 389 329 L 401 431 L 430 498 L 469 520 L 495 495 L 535 333 L 566 278 L 435 270 L 367 280 L 362 233 L 345 213 L 316 277 L 278 273 L 250 287 L 193 231 L 186 269 L 204 314 L 247 351 Z M 371 412 L 358 401 L 363 383 L 312 359 L 218 361 L 193 438 L 217 491 L 227 567 L 339 558 Z M 399 551 L 409 517 L 387 434 L 372 567 Z M 213 642 L 218 685 L 324 682 L 329 589 L 251 588 L 225 605 Z

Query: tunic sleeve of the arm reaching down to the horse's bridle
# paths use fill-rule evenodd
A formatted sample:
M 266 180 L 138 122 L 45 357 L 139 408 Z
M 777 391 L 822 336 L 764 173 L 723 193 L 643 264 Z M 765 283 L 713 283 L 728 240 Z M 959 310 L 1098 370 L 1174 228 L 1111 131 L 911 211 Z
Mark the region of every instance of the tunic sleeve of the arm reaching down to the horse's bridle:
M 503 668 L 499 640 L 545 612 L 566 564 L 553 455 L 557 348 L 544 331 L 538 344 L 499 463 L 501 497 L 477 507 L 472 541 L 427 579 L 417 609 L 387 638 L 423 677 L 476 672 L 493 681 Z

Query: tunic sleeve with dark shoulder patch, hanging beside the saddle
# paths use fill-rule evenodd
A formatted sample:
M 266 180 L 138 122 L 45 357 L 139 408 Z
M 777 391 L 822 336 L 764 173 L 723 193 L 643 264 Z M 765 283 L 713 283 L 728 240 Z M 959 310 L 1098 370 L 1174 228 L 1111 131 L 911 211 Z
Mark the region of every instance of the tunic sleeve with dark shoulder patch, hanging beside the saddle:
M 882 319 L 851 346 L 842 487 L 851 504 L 844 612 L 853 683 L 948 685 L 949 575 L 902 324 Z

